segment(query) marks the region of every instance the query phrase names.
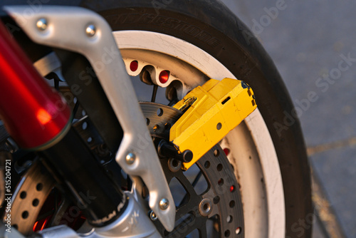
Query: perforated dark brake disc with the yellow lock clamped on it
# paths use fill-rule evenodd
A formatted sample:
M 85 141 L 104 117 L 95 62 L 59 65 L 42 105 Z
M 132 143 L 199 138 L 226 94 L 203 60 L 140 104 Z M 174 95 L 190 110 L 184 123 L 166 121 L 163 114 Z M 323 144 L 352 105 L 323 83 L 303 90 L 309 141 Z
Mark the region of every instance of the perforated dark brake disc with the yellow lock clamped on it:
M 182 112 L 158 103 L 140 104 L 154 140 L 169 139 L 169 129 Z M 160 160 L 177 207 L 172 232 L 165 231 L 159 219 L 155 219 L 162 237 L 244 237 L 239 184 L 219 145 L 198 160 L 195 171 L 190 168 L 183 172 L 181 162 L 174 158 Z M 204 183 L 206 189 L 199 192 Z

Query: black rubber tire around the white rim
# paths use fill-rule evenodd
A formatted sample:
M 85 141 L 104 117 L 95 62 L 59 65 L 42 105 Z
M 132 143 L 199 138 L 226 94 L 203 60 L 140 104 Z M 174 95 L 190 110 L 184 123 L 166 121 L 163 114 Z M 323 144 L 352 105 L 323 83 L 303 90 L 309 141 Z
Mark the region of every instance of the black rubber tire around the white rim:
M 251 31 L 214 0 L 88 0 L 81 6 L 98 11 L 114 31 L 153 31 L 188 41 L 253 88 L 281 167 L 286 237 L 311 237 L 311 228 L 303 235 L 295 232 L 300 219 L 313 214 L 310 167 L 300 123 L 298 118 L 289 118 L 292 122 L 286 123 L 286 114 L 293 115 L 293 103 L 276 66 Z M 199 38 L 197 32 L 203 31 L 211 37 Z

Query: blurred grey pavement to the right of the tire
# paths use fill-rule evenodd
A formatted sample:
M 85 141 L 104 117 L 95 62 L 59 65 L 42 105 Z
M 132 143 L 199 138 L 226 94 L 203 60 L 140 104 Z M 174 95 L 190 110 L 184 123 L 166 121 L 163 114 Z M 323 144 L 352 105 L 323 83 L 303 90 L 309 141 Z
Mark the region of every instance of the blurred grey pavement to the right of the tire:
M 315 175 L 345 234 L 356 237 L 356 1 L 224 3 L 253 29 L 302 109 Z M 318 100 L 307 103 L 310 92 Z M 313 237 L 325 237 L 322 230 L 316 222 Z

